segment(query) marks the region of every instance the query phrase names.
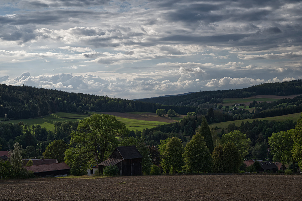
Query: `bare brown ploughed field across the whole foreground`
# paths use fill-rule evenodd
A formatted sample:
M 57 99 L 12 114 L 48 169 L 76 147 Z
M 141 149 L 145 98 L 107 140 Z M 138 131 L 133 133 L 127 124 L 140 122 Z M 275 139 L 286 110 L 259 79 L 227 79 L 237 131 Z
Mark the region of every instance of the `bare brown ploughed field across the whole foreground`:
M 302 200 L 301 175 L 1 180 L 0 200 Z

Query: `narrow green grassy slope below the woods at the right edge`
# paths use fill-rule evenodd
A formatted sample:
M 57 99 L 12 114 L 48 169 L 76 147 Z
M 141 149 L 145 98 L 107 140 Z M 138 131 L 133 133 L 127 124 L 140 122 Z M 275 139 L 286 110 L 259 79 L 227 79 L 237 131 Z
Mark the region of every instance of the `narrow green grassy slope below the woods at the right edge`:
M 294 114 L 288 114 L 288 115 L 283 115 L 283 116 L 272 116 L 272 117 L 265 117 L 265 118 L 259 118 L 259 119 L 245 119 L 245 120 L 236 120 L 236 121 L 226 121 L 226 122 L 221 122 L 221 123 L 212 123 L 209 126 L 210 127 L 218 127 L 222 129 L 226 129 L 227 126 L 230 123 L 235 123 L 236 126 L 240 126 L 241 122 L 252 122 L 254 120 L 275 120 L 275 121 L 285 121 L 285 120 L 293 120 L 297 121 L 301 117 L 301 113 L 294 113 Z

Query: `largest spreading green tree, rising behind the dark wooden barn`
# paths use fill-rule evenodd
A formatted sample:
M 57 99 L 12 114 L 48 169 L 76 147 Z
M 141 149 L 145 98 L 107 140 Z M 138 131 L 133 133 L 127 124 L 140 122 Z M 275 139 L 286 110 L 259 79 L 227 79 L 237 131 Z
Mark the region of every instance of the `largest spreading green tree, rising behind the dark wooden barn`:
M 116 137 L 123 138 L 128 134 L 125 123 L 116 117 L 93 114 L 79 123 L 77 130 L 70 134 L 70 142 L 75 143 L 78 150 L 87 154 L 91 161 L 96 158 L 97 163 L 100 163 L 118 145 Z

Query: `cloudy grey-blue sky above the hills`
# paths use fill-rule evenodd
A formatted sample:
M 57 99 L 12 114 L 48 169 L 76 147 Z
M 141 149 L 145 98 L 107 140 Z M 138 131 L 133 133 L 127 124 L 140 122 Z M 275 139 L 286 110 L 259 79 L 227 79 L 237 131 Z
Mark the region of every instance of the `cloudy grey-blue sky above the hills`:
M 302 78 L 302 1 L 1 0 L 0 83 L 136 99 Z

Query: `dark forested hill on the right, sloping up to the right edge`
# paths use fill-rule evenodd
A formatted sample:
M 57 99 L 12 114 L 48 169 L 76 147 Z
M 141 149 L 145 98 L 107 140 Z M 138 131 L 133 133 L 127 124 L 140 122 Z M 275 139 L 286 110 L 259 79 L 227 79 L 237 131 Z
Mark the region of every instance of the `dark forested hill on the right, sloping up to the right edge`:
M 278 95 L 286 96 L 302 93 L 302 80 L 293 80 L 286 82 L 265 83 L 255 85 L 244 89 L 230 89 L 218 91 L 201 91 L 194 92 L 187 95 L 169 96 L 169 97 L 155 97 L 140 99 L 145 103 L 157 103 L 163 105 L 184 106 L 192 102 L 198 104 L 205 102 L 219 103 L 221 98 L 245 98 L 252 95 Z M 213 99 L 214 98 L 214 99 Z M 216 99 L 216 100 L 215 100 Z

